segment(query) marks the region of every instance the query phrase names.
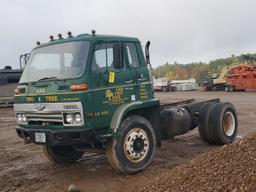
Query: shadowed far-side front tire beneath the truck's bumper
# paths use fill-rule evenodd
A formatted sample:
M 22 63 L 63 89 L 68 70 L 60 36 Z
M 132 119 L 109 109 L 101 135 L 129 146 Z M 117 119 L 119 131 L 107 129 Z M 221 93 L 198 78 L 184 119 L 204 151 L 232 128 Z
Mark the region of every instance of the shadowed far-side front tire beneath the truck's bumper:
M 73 146 L 43 145 L 46 157 L 56 164 L 71 164 L 80 159 L 84 152 L 76 151 Z

